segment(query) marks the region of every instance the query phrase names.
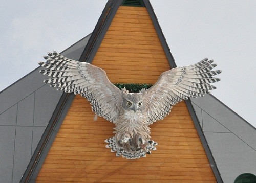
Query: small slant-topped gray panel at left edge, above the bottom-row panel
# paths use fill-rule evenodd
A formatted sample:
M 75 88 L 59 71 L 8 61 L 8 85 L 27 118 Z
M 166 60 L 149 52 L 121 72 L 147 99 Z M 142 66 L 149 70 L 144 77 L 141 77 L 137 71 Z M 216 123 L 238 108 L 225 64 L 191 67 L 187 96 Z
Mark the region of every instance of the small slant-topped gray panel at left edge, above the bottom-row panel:
M 0 114 L 0 125 L 16 125 L 17 104 Z

